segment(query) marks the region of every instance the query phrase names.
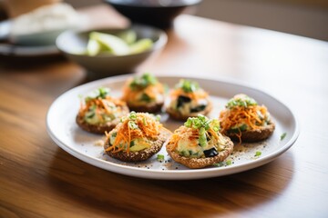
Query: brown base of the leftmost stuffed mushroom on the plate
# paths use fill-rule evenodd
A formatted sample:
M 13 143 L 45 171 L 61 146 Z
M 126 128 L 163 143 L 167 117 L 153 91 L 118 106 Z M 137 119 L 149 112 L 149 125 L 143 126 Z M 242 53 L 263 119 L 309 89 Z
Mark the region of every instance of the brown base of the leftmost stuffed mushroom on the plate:
M 128 114 L 128 106 L 122 107 L 122 112 L 124 114 Z M 105 132 L 109 132 L 112 129 L 117 126 L 117 124 L 120 121 L 120 117 L 112 120 L 111 122 L 108 122 L 107 124 L 87 124 L 84 117 L 81 114 L 77 114 L 77 124 L 79 127 L 81 127 L 83 130 L 93 133 L 93 134 L 105 134 Z

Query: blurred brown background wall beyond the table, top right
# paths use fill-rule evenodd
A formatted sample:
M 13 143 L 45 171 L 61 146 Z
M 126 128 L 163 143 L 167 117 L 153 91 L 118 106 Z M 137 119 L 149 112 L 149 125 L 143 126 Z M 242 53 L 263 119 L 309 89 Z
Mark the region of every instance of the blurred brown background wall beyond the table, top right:
M 327 0 L 203 0 L 196 15 L 328 41 Z

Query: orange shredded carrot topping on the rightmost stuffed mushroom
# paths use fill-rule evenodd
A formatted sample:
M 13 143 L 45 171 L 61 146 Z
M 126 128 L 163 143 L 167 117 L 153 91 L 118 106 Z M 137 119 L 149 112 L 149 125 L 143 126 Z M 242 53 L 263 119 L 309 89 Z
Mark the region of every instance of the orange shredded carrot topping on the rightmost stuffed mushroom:
M 267 114 L 267 108 L 264 105 L 250 105 L 248 107 L 235 106 L 231 109 L 225 109 L 220 113 L 220 127 L 223 134 L 226 134 L 232 127 L 241 124 L 247 124 L 251 130 L 259 129 L 265 123 L 265 119 L 259 117 Z M 241 141 L 241 130 L 235 134 Z

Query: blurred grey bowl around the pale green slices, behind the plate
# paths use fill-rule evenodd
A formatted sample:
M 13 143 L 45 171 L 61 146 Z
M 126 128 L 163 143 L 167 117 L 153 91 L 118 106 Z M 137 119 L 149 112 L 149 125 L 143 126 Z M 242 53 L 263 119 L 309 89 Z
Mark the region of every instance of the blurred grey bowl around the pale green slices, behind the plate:
M 153 46 L 138 54 L 98 54 L 90 56 L 85 54 L 87 41 L 91 32 L 97 31 L 105 34 L 115 35 L 121 31 L 133 30 L 137 38 L 149 38 Z M 88 71 L 91 78 L 102 78 L 118 74 L 133 73 L 139 64 L 146 61 L 149 56 L 159 52 L 166 45 L 168 36 L 158 28 L 146 25 L 132 25 L 127 29 L 99 29 L 89 31 L 69 30 L 59 35 L 56 39 L 56 46 L 67 57 L 82 65 Z

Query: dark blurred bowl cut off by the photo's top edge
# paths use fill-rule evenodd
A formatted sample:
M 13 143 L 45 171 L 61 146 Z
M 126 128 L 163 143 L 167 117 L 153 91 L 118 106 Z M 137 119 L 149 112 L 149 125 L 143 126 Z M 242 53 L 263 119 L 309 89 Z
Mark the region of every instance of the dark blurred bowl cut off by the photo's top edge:
M 104 0 L 134 23 L 168 28 L 184 9 L 201 0 Z

